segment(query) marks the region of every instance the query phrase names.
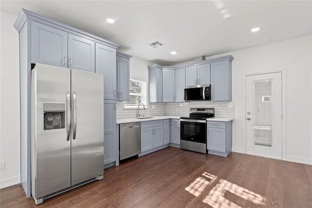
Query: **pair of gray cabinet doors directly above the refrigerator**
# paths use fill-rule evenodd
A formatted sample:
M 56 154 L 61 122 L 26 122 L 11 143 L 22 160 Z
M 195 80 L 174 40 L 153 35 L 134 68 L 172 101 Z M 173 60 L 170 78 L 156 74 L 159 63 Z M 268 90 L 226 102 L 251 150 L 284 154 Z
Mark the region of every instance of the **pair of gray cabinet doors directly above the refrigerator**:
M 32 63 L 95 72 L 95 42 L 32 21 Z

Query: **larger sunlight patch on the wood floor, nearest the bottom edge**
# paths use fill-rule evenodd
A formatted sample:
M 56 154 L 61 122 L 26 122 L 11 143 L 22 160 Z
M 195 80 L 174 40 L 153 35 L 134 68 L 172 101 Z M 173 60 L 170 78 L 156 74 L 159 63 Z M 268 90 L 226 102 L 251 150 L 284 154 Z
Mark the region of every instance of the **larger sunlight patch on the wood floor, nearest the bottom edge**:
M 265 197 L 254 193 L 253 191 L 250 191 L 248 189 L 245 189 L 243 187 L 237 186 L 236 184 L 233 184 L 227 180 L 220 179 L 219 183 L 211 189 L 209 194 L 206 196 L 206 198 L 203 200 L 204 203 L 212 206 L 212 207 L 238 207 L 235 203 L 229 201 L 226 199 L 225 193 L 229 191 L 245 200 L 248 200 L 256 205 L 265 205 Z

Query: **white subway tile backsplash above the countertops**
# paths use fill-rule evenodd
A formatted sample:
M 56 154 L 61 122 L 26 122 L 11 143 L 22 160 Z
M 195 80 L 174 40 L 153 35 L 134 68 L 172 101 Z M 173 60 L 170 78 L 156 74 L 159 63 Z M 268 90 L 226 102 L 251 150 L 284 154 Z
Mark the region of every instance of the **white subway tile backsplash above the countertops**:
M 232 103 L 233 107 L 228 107 L 228 103 Z M 116 102 L 117 119 L 122 118 L 133 118 L 137 117 L 136 109 L 124 109 L 124 102 Z M 155 107 L 155 108 L 153 108 Z M 141 109 L 140 113 L 147 116 L 157 115 L 174 115 L 174 116 L 188 116 L 190 108 L 215 108 L 215 117 L 234 117 L 234 103 L 228 101 L 192 101 L 192 102 L 181 102 L 181 103 L 148 103 L 145 110 Z

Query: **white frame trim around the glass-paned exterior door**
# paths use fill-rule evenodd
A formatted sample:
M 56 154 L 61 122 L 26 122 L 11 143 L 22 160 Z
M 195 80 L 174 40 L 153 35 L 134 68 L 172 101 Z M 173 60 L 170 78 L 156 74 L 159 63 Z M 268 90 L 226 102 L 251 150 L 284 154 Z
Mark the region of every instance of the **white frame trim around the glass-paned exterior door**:
M 275 69 L 270 71 L 261 71 L 254 73 L 246 73 L 243 74 L 243 102 L 244 102 L 244 113 L 246 112 L 246 76 L 253 75 L 263 75 L 263 74 L 271 74 L 271 73 L 282 73 L 282 160 L 286 160 L 286 69 Z M 246 154 L 246 116 L 243 124 L 243 150 Z

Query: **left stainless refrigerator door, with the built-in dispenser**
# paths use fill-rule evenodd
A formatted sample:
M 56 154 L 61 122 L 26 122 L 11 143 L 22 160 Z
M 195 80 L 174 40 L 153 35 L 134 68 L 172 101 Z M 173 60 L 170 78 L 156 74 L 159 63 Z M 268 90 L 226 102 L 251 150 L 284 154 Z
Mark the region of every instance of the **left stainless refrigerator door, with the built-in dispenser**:
M 67 140 L 69 92 L 69 69 L 36 64 L 32 70 L 31 118 L 31 181 L 36 199 L 71 186 L 71 141 Z

